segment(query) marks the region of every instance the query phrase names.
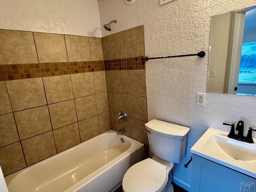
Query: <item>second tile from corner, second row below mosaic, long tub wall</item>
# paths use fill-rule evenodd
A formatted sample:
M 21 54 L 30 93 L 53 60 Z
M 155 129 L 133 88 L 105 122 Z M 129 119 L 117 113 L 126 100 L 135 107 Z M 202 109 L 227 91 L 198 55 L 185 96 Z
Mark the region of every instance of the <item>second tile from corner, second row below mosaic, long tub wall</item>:
M 95 95 L 75 99 L 78 121 L 97 115 Z

